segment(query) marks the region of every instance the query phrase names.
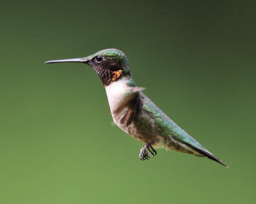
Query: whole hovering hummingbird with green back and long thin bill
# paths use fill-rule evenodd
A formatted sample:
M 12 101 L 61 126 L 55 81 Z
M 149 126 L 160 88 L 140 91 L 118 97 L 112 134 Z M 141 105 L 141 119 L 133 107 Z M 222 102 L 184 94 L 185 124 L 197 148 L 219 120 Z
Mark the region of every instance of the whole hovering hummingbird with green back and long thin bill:
M 140 159 L 156 156 L 156 149 L 165 148 L 208 157 L 228 166 L 206 150 L 172 119 L 165 115 L 143 93 L 132 79 L 126 55 L 121 50 L 109 48 L 93 55 L 75 59 L 61 59 L 45 63 L 81 62 L 92 66 L 106 89 L 111 115 L 116 125 L 136 140 L 145 143 L 140 149 Z

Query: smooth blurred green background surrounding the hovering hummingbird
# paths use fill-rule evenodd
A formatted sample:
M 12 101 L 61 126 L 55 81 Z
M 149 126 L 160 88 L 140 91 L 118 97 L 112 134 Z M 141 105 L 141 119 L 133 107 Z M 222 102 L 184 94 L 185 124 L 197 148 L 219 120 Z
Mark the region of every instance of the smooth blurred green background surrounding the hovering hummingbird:
M 253 203 L 255 1 L 2 1 L 0 203 Z M 104 48 L 230 168 L 113 125 L 84 64 Z

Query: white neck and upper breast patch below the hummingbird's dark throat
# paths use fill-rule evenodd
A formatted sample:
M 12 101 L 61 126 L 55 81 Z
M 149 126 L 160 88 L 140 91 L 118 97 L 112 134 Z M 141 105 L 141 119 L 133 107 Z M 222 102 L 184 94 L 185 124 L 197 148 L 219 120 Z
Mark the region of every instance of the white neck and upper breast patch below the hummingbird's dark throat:
M 113 113 L 113 110 L 120 104 L 125 92 L 134 87 L 136 87 L 136 84 L 131 77 L 122 77 L 121 80 L 105 85 L 111 113 Z

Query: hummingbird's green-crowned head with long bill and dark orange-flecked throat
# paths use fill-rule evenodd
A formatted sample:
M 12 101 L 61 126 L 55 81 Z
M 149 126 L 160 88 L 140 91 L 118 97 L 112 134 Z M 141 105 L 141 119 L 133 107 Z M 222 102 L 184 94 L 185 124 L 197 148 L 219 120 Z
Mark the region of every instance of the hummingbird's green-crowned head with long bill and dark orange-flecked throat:
M 131 77 L 129 64 L 124 52 L 116 49 L 106 49 L 93 55 L 75 59 L 61 59 L 45 63 L 82 62 L 93 67 L 104 85 L 121 80 L 122 77 Z

